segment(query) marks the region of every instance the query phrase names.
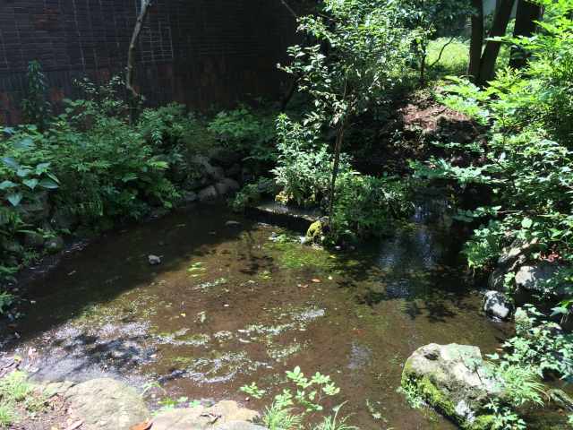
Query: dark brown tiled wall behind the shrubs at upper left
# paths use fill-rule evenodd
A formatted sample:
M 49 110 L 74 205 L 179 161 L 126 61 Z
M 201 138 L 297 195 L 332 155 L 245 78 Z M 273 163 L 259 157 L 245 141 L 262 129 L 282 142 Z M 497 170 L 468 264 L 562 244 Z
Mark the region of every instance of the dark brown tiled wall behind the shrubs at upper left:
M 140 0 L 0 0 L 0 124 L 20 120 L 30 60 L 47 73 L 50 98 L 73 80 L 124 74 Z M 276 64 L 295 41 L 279 1 L 154 0 L 141 33 L 137 82 L 150 104 L 195 108 L 276 95 Z

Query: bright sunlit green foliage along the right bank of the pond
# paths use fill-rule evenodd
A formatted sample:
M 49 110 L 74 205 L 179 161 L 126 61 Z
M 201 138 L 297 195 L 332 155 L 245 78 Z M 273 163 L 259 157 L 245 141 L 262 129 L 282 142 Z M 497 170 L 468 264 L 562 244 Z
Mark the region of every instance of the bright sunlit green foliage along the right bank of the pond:
M 474 161 L 415 164 L 420 175 L 454 179 L 462 187 L 480 185 L 492 196 L 486 206 L 460 214 L 486 219 L 466 245 L 475 268 L 493 262 L 515 239 L 534 243 L 540 259 L 573 258 L 573 4 L 545 3 L 543 32 L 512 40 L 534 55 L 525 70 L 500 71 L 486 89 L 462 79 L 445 89 L 449 107 L 485 126 L 480 141 L 457 146 Z

